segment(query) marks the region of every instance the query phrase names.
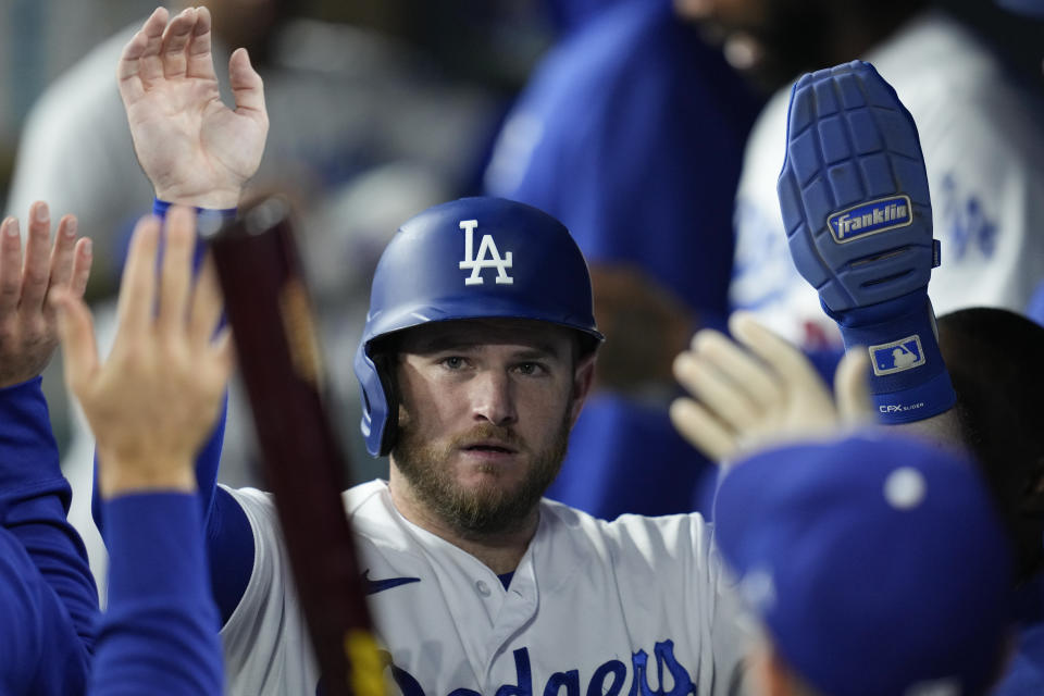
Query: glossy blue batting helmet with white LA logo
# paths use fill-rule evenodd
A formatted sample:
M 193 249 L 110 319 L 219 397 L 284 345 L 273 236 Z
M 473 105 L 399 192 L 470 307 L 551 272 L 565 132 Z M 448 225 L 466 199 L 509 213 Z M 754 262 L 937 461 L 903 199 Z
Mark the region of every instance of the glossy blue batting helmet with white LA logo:
M 587 263 L 566 226 L 502 198 L 462 198 L 403 223 L 374 272 L 356 351 L 361 428 L 371 455 L 390 451 L 398 422 L 390 375 L 375 361 L 378 339 L 428 322 L 494 318 L 574 328 L 592 349 L 602 340 Z

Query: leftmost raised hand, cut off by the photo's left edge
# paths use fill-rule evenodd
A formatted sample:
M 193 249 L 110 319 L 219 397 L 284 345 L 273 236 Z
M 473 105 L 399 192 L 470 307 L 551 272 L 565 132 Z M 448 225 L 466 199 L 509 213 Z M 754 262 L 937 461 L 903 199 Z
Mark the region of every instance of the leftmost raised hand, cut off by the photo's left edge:
M 47 203 L 29 208 L 25 258 L 18 221 L 0 225 L 0 388 L 44 371 L 58 346 L 58 324 L 48 296 L 66 288 L 79 298 L 90 274 L 90 239 L 76 239 L 76 219 L 65 215 L 51 243 Z

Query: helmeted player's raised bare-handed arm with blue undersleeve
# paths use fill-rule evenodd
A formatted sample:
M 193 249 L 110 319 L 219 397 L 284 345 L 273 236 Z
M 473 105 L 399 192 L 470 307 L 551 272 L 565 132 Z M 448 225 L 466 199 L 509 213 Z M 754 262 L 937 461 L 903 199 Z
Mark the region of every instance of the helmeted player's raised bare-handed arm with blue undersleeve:
M 163 202 L 234 209 L 261 162 L 269 119 L 261 76 L 245 49 L 228 77 L 235 109 L 221 101 L 207 8 L 170 17 L 158 8 L 124 48 L 116 67 L 135 153 Z M 161 212 L 161 211 L 157 211 Z M 203 446 L 197 481 L 206 504 L 213 592 L 227 619 L 246 589 L 253 560 L 249 523 L 238 504 L 214 489 L 224 421 Z

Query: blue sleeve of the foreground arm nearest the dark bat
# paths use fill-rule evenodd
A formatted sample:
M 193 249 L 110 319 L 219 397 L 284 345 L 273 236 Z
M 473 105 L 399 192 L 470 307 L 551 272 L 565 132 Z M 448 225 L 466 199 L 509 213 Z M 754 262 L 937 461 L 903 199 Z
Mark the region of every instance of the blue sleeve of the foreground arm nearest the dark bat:
M 221 694 L 220 621 L 197 497 L 133 494 L 103 507 L 109 607 L 89 693 Z

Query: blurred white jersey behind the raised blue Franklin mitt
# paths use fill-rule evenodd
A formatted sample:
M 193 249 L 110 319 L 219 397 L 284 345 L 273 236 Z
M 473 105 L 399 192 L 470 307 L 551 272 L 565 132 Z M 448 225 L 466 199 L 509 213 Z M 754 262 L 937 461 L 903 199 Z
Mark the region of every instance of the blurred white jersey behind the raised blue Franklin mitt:
M 1024 311 L 1044 278 L 1044 127 L 996 57 L 939 11 L 865 57 L 917 123 L 942 265 L 929 295 L 939 314 L 964 307 Z M 791 260 L 775 184 L 790 86 L 759 115 L 736 194 L 734 308 L 808 348 L 840 345 L 816 290 Z

